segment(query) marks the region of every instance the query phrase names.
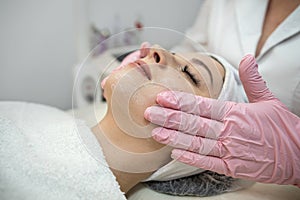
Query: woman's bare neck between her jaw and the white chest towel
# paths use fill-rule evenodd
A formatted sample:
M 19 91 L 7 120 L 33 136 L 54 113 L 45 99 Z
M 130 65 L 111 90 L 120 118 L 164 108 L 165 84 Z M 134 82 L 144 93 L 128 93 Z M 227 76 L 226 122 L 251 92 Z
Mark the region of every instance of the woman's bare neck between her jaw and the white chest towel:
M 151 145 L 152 141 L 148 145 L 141 145 L 147 141 L 124 134 L 109 114 L 92 128 L 92 132 L 101 145 L 105 159 L 121 190 L 125 193 L 170 160 L 170 148 L 163 148 L 160 156 L 151 155 L 157 145 Z M 163 159 L 159 158 L 161 155 Z

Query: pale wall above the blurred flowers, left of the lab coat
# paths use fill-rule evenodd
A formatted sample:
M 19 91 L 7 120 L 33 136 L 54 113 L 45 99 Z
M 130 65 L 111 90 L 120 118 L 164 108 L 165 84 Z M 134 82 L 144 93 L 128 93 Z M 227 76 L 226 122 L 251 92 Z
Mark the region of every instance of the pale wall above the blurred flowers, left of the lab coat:
M 190 27 L 203 0 L 90 0 L 90 19 L 99 28 L 114 29 L 115 16 L 122 29 L 139 19 L 146 26 L 184 32 Z M 112 12 L 113 11 L 113 12 Z

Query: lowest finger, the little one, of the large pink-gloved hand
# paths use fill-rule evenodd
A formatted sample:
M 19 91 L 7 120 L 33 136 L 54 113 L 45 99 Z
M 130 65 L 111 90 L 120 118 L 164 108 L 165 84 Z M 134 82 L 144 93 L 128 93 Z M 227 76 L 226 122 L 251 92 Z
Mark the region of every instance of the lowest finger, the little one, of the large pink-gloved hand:
M 203 156 L 185 150 L 174 149 L 171 157 L 185 164 L 229 175 L 227 164 L 221 159 L 213 156 Z

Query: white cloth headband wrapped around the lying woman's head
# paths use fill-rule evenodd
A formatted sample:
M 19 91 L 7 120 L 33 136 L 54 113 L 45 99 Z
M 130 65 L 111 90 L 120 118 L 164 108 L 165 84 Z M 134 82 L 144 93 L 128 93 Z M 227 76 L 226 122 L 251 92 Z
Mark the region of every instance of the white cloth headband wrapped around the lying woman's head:
M 217 59 L 222 63 L 225 69 L 225 78 L 222 90 L 219 94 L 218 100 L 222 101 L 235 101 L 235 102 L 247 102 L 247 97 L 244 92 L 243 86 L 240 82 L 237 70 L 232 67 L 226 60 L 222 57 L 209 54 L 213 58 Z M 168 164 L 164 165 L 153 173 L 145 181 L 167 181 L 177 178 L 187 177 L 194 174 L 198 174 L 205 171 L 204 169 L 199 169 L 193 166 L 186 165 L 184 163 L 178 162 L 176 160 L 170 161 Z

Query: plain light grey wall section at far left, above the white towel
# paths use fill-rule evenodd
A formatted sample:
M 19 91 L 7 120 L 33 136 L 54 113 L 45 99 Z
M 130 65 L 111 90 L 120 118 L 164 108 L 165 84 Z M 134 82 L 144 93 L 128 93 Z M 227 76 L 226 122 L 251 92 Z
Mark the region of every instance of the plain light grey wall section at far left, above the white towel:
M 71 107 L 72 0 L 0 1 L 0 100 Z

